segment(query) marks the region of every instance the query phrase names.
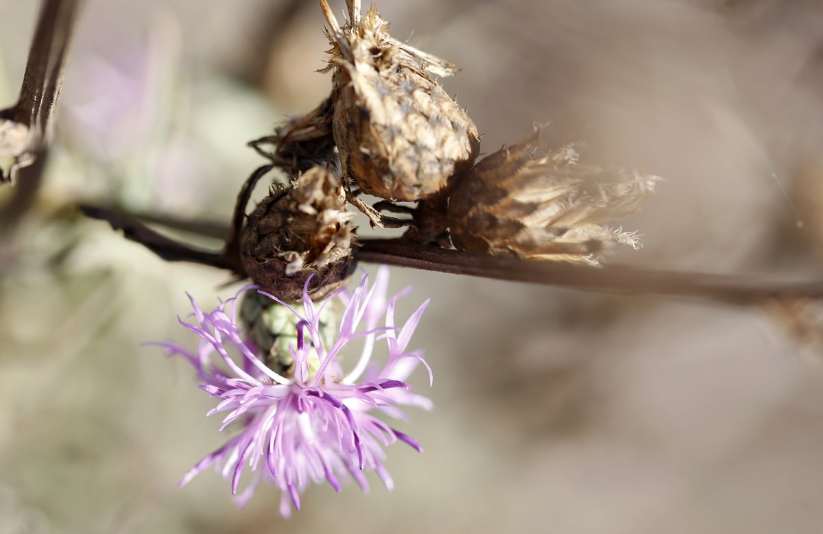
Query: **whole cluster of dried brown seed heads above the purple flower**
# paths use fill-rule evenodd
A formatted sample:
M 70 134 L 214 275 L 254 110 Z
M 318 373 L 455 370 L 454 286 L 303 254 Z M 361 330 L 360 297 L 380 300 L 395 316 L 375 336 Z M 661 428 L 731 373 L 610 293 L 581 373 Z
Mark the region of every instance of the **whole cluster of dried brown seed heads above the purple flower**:
M 374 7 L 361 13 L 358 0 L 346 1 L 344 26 L 328 0 L 320 6 L 332 45 L 324 69 L 333 70 L 331 93 L 309 114 L 252 142 L 287 174 L 303 173 L 249 217 L 243 262 L 255 282 L 288 285 L 270 288 L 284 300 L 300 299 L 310 273 L 328 291 L 339 286 L 356 239 L 346 202 L 373 226 L 409 226 L 409 242 L 494 256 L 596 265 L 610 244 L 639 247 L 636 234 L 607 224 L 635 211 L 657 177 L 578 165 L 572 145 L 542 151 L 539 128 L 475 165 L 477 128 L 435 80 L 453 75 L 453 64 L 388 35 L 388 23 Z M 587 188 L 592 179 L 603 184 Z M 359 193 L 384 202 L 371 207 Z M 333 197 L 328 205 L 326 194 Z M 330 272 L 337 278 L 320 276 Z

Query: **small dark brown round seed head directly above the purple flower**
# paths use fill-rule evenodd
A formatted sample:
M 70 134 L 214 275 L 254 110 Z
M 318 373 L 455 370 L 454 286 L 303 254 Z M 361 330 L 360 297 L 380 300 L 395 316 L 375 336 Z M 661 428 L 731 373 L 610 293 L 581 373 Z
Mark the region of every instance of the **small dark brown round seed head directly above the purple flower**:
M 309 295 L 322 299 L 354 270 L 353 216 L 337 174 L 313 167 L 249 215 L 240 240 L 243 267 L 262 290 L 287 301 L 301 300 L 312 276 Z

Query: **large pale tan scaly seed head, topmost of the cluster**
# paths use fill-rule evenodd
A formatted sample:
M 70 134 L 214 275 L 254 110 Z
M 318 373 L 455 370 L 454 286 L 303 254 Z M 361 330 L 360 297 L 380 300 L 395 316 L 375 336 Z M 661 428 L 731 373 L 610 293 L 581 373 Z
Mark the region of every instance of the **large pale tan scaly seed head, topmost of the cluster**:
M 335 68 L 332 129 L 344 173 L 365 193 L 416 201 L 448 192 L 480 147 L 477 128 L 432 77 L 451 63 L 393 39 L 374 8 L 348 0 L 342 28 L 320 0 Z

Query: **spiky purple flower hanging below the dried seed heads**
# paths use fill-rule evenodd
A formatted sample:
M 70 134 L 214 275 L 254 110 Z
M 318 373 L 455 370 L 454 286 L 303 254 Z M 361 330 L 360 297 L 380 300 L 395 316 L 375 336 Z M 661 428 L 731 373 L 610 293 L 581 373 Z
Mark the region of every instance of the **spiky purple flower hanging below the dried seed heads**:
M 306 283 L 308 286 L 308 281 Z M 291 516 L 291 506 L 300 509 L 300 495 L 310 482 L 325 479 L 340 491 L 341 481 L 354 478 L 369 489 L 363 471 L 375 471 L 388 490 L 393 481 L 383 463 L 384 447 L 397 440 L 420 451 L 419 444 L 407 434 L 394 430 L 376 414 L 405 420 L 398 406 L 418 406 L 429 410 L 430 400 L 412 393 L 404 380 L 418 363 L 431 369 L 421 353 L 407 352 L 426 300 L 402 327 L 395 327 L 394 308 L 407 291 L 386 300 L 388 267 L 381 267 L 374 286 L 368 276 L 349 294 L 338 291 L 316 305 L 304 289 L 302 313 L 272 295 L 258 291 L 294 315 L 296 343 L 288 350 L 294 360 L 293 373 L 278 374 L 263 363 L 253 343 L 245 339 L 244 327 L 236 318 L 236 304 L 244 292 L 204 312 L 191 300 L 193 323 L 180 323 L 198 334 L 198 351 L 163 343 L 167 354 L 181 355 L 193 365 L 200 388 L 220 402 L 208 412 L 226 415 L 220 430 L 235 423 L 239 434 L 221 448 L 204 457 L 180 481 L 185 485 L 209 466 L 215 465 L 231 479 L 232 494 L 245 504 L 261 480 L 277 485 L 281 491 L 280 513 Z M 339 331 L 330 346 L 323 346 L 328 332 L 321 332 L 320 316 L 333 299 L 345 304 Z M 384 326 L 378 323 L 385 317 Z M 360 323 L 365 328 L 358 331 Z M 324 337 L 325 336 L 325 337 Z M 363 349 L 354 367 L 344 374 L 340 365 L 342 350 L 356 338 L 364 338 Z M 375 341 L 386 341 L 388 360 L 382 369 L 370 365 Z M 316 369 L 316 370 L 314 370 Z M 365 374 L 365 379 L 360 380 Z M 360 382 L 358 382 L 360 380 Z M 238 495 L 240 476 L 250 467 L 252 480 Z

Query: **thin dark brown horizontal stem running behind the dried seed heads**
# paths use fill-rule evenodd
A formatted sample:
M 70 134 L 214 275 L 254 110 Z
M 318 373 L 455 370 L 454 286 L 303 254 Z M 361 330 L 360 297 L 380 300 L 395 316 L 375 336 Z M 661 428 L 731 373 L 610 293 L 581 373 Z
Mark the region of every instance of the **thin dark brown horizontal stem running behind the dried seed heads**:
M 81 207 L 81 210 L 87 216 L 108 221 L 116 230 L 123 230 L 127 239 L 143 244 L 160 258 L 172 262 L 202 263 L 245 276 L 242 267 L 239 267 L 239 260 L 180 244 L 147 228 L 132 216 L 99 207 Z M 154 218 L 155 221 L 159 219 Z M 184 228 L 180 221 L 169 219 L 162 222 L 173 228 Z M 186 223 L 185 229 L 193 230 L 196 226 Z M 576 290 L 623 295 L 695 297 L 737 305 L 765 304 L 776 299 L 823 298 L 823 281 L 773 282 L 741 276 L 658 271 L 639 267 L 584 267 L 554 262 L 524 262 L 414 244 L 404 239 L 360 239 L 360 244 L 360 248 L 355 250 L 355 256 L 363 262 Z

